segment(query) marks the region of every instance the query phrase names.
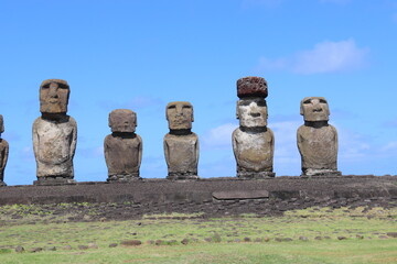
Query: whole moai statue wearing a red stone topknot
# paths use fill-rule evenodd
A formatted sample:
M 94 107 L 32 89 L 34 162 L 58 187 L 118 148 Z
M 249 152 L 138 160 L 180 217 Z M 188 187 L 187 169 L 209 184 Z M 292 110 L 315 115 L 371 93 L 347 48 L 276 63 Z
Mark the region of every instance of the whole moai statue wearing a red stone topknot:
M 268 111 L 265 98 L 267 82 L 260 77 L 237 80 L 237 119 L 239 128 L 232 135 L 233 152 L 237 162 L 237 177 L 275 177 L 275 135 L 267 128 Z

